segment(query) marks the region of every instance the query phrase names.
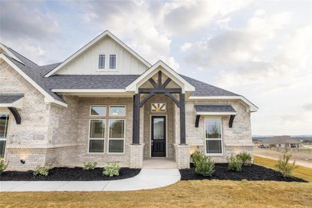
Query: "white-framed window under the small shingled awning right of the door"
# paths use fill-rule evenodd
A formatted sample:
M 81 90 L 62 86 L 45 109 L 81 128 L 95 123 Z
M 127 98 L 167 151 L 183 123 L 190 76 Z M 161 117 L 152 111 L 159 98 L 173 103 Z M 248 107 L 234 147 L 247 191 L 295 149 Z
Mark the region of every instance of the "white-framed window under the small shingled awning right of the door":
M 221 119 L 205 119 L 206 153 L 222 154 Z

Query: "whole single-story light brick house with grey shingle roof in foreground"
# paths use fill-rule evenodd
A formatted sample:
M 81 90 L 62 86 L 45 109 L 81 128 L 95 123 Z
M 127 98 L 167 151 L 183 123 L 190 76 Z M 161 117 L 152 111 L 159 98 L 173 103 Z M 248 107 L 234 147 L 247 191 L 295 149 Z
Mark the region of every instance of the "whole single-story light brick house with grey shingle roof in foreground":
M 109 31 L 44 66 L 0 47 L 0 154 L 10 170 L 70 162 L 141 168 L 150 157 L 189 168 L 197 148 L 216 162 L 252 154 L 257 106 L 162 60 L 150 64 Z

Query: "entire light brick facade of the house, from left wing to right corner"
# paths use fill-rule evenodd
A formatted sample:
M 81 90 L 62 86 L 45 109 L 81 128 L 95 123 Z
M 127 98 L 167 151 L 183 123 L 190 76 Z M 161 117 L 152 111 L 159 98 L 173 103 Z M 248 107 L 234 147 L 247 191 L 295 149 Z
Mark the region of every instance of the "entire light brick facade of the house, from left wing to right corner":
M 200 117 L 195 127 L 194 104 L 227 104 L 236 110 L 233 128 L 229 128 L 229 116 L 222 116 L 223 155 L 213 157 L 216 162 L 226 162 L 227 156 L 241 151 L 252 153 L 250 113 L 239 101 L 187 101 L 187 145 L 180 144 L 179 108 L 164 95 L 150 98 L 140 110 L 140 144 L 132 144 L 132 97 L 78 97 L 64 96 L 68 107 L 44 103 L 44 96 L 8 64 L 0 65 L 0 93 L 24 93 L 21 125 L 10 114 L 6 141 L 5 159 L 10 161 L 10 170 L 28 170 L 37 165 L 63 166 L 98 162 L 117 162 L 121 166 L 140 167 L 143 159 L 150 157 L 150 105 L 166 103 L 167 157 L 175 159 L 179 168 L 189 167 L 189 155 L 200 148 L 205 150 L 205 117 Z M 107 116 L 90 116 L 90 105 L 106 105 Z M 125 116 L 109 116 L 110 105 L 125 105 Z M 0 109 L 4 111 L 5 109 Z M 153 113 L 156 114 L 156 113 Z M 209 116 L 206 116 L 208 118 Z M 106 119 L 104 153 L 88 153 L 89 119 Z M 108 153 L 108 119 L 125 119 L 123 153 Z M 26 161 L 21 164 L 20 159 Z

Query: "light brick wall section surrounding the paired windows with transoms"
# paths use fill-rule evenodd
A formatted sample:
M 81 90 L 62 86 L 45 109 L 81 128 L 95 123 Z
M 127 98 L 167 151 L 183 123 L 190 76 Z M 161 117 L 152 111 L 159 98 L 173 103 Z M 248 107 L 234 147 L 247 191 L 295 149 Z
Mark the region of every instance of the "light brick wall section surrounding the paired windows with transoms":
M 90 116 L 91 105 L 106 105 L 106 116 Z M 110 105 L 125 105 L 126 115 L 109 116 Z M 129 166 L 130 144 L 132 144 L 133 98 L 80 98 L 78 112 L 78 149 L 76 153 L 77 160 L 79 162 L 96 161 L 100 164 L 117 162 L 122 166 Z M 88 153 L 89 119 L 106 119 L 104 153 Z M 125 119 L 124 153 L 108 153 L 109 119 Z

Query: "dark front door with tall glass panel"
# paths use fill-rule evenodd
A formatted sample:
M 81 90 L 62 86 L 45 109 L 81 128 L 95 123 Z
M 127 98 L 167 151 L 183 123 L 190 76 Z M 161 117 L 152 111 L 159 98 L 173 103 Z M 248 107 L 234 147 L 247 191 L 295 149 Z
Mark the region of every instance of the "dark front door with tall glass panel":
M 152 116 L 152 157 L 166 157 L 166 116 Z

